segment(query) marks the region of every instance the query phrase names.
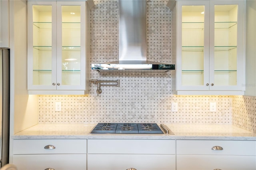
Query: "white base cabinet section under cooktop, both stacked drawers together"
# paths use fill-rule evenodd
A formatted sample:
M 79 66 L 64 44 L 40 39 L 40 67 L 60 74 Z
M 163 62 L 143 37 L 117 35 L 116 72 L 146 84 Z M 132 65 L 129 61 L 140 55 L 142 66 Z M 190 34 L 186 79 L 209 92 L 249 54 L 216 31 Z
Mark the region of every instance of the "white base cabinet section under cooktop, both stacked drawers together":
M 88 170 L 175 170 L 175 140 L 88 139 Z

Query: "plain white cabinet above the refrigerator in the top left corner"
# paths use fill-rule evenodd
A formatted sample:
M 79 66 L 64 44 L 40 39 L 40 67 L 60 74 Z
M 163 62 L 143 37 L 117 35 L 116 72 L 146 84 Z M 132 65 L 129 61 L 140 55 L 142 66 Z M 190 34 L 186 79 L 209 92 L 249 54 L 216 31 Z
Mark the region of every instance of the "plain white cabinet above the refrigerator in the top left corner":
M 0 47 L 8 48 L 9 44 L 9 1 L 0 1 Z

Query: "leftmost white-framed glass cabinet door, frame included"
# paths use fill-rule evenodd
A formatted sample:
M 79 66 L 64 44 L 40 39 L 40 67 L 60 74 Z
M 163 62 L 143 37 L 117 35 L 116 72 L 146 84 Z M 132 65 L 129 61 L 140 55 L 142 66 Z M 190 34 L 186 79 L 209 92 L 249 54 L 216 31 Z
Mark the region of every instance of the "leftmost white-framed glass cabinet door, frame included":
M 55 24 L 55 4 L 46 2 L 28 6 L 31 13 L 28 16 L 28 87 L 40 86 L 44 89 L 54 89 L 52 80 L 56 79 L 54 63 L 56 60 L 56 38 L 53 32 Z M 35 2 L 36 3 L 36 2 Z M 55 35 L 56 37 L 56 35 Z

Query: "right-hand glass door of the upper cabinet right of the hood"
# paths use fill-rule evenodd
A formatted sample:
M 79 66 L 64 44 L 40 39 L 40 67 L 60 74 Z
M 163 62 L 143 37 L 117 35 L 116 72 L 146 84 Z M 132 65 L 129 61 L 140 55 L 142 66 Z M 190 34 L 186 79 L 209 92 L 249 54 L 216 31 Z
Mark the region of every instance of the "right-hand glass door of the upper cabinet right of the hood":
M 214 42 L 210 49 L 210 84 L 211 89 L 226 89 L 232 90 L 240 88 L 242 85 L 238 82 L 243 82 L 240 72 L 243 72 L 243 26 L 241 18 L 242 1 L 232 2 L 215 2 L 212 4 L 211 10 L 214 12 L 212 17 L 211 37 Z M 238 9 L 240 10 L 238 12 Z M 239 16 L 240 15 L 240 16 Z M 238 41 L 240 40 L 240 41 Z M 240 56 L 238 55 L 240 54 Z M 238 57 L 239 56 L 239 57 Z M 240 64 L 240 66 L 239 66 Z M 240 79 L 240 80 L 239 80 Z M 240 87 L 239 87 L 240 86 Z

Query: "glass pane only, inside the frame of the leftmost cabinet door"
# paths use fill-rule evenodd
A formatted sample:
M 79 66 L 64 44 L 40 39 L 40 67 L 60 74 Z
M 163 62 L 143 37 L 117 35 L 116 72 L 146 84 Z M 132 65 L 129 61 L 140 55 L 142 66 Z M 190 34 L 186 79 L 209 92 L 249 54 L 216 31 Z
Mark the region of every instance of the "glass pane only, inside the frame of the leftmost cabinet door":
M 52 51 L 52 5 L 34 5 L 32 10 L 33 85 L 51 85 L 54 52 Z

